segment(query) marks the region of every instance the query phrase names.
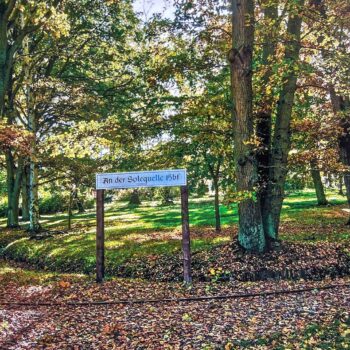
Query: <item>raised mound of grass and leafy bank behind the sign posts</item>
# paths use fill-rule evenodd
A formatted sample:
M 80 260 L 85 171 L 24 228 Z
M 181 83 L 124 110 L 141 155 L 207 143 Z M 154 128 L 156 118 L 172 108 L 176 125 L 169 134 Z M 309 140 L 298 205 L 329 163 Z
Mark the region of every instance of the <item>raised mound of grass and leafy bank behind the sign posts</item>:
M 212 199 L 191 199 L 195 278 L 289 279 L 345 273 L 350 227 L 344 225 L 344 198 L 332 196 L 328 197 L 333 205 L 325 207 L 317 207 L 310 191 L 288 197 L 282 212 L 281 250 L 258 257 L 246 255 L 230 244 L 237 233 L 235 206 L 221 207 L 224 228 L 217 234 L 213 229 Z M 105 215 L 107 274 L 181 279 L 180 216 L 178 202 L 170 207 L 154 202 L 136 208 L 123 202 L 109 205 Z M 42 224 L 48 230 L 64 231 L 66 216 L 43 216 Z M 71 231 L 40 240 L 30 239 L 24 230 L 0 229 L 0 257 L 47 271 L 94 274 L 95 225 L 95 213 L 91 211 L 75 215 Z

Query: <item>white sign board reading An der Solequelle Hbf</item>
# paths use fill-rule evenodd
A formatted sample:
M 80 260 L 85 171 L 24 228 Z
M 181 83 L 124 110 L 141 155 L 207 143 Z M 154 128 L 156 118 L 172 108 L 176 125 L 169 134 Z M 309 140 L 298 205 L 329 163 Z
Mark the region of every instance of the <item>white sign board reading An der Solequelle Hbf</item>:
M 185 186 L 185 169 L 96 174 L 96 189 Z

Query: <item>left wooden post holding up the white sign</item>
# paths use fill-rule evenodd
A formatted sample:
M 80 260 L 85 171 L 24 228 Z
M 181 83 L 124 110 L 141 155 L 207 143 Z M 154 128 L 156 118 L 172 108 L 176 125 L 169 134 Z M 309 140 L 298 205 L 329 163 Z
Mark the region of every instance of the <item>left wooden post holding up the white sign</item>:
M 105 275 L 104 190 L 96 190 L 96 282 Z

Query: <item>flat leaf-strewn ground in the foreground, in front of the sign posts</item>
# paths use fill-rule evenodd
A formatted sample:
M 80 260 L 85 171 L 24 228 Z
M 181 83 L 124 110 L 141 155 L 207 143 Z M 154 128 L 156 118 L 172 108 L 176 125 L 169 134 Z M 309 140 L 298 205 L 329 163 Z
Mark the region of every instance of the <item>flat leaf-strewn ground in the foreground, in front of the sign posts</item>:
M 347 349 L 350 278 L 180 283 L 38 273 L 2 263 L 1 349 Z M 336 285 L 336 288 L 321 289 Z M 73 305 L 74 302 L 218 296 L 223 300 Z M 4 303 L 29 302 L 18 306 Z M 37 303 L 57 303 L 40 306 Z M 70 303 L 70 305 L 67 305 Z

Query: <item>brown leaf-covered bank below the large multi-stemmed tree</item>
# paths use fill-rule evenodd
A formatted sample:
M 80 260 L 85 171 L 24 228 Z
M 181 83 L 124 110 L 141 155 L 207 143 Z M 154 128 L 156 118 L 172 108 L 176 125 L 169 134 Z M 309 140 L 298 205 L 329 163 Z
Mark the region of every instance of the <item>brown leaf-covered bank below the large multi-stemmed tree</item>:
M 235 240 L 236 241 L 236 240 Z M 193 254 L 193 277 L 199 281 L 321 279 L 350 273 L 350 250 L 343 243 L 281 242 L 265 254 L 250 254 L 228 243 Z M 160 281 L 182 278 L 181 256 L 133 259 L 114 271 L 119 276 Z

